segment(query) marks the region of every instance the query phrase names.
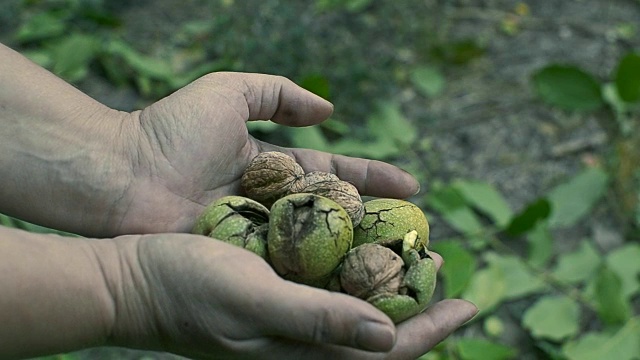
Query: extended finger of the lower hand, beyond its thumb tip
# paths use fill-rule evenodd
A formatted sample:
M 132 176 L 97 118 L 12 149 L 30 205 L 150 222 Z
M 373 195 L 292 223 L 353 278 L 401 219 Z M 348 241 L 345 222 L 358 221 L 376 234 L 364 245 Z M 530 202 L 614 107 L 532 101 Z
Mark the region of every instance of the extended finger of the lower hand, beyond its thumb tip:
M 478 313 L 472 303 L 450 299 L 440 301 L 398 325 L 398 341 L 391 359 L 416 359 L 431 350 Z

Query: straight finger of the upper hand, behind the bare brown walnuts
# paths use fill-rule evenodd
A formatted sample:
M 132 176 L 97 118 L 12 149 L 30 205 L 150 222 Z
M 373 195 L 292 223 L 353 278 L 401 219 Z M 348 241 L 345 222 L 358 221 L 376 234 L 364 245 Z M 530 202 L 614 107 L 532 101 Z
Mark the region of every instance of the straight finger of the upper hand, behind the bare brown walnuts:
M 420 191 L 420 184 L 413 175 L 382 161 L 256 142 L 260 151 L 280 151 L 293 156 L 307 173 L 324 171 L 336 174 L 341 180 L 353 184 L 360 195 L 404 199 Z

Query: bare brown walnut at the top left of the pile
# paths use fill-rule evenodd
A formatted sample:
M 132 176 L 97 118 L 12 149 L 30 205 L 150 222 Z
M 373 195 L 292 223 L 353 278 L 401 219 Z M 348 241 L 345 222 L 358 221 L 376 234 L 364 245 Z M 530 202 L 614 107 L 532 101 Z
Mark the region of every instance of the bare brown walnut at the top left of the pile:
M 289 194 L 291 186 L 302 180 L 304 170 L 296 161 L 281 152 L 258 154 L 245 169 L 241 186 L 247 196 L 267 207 Z

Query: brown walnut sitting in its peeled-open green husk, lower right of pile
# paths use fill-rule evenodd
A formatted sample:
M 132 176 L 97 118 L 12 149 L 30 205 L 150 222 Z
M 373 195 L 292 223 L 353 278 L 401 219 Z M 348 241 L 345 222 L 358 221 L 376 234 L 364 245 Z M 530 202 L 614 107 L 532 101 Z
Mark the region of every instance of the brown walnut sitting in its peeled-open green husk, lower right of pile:
M 427 308 L 435 291 L 436 266 L 415 230 L 393 249 L 372 243 L 353 248 L 342 264 L 340 284 L 397 324 Z

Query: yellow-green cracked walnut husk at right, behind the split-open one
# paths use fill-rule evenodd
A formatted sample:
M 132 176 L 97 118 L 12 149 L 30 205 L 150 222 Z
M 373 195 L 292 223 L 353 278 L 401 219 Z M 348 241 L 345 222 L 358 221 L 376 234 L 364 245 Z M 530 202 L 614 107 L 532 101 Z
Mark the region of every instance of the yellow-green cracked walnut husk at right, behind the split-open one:
M 415 230 L 417 242 L 429 245 L 429 222 L 422 210 L 405 200 L 374 199 L 364 203 L 364 217 L 354 228 L 353 247 L 402 241 Z

